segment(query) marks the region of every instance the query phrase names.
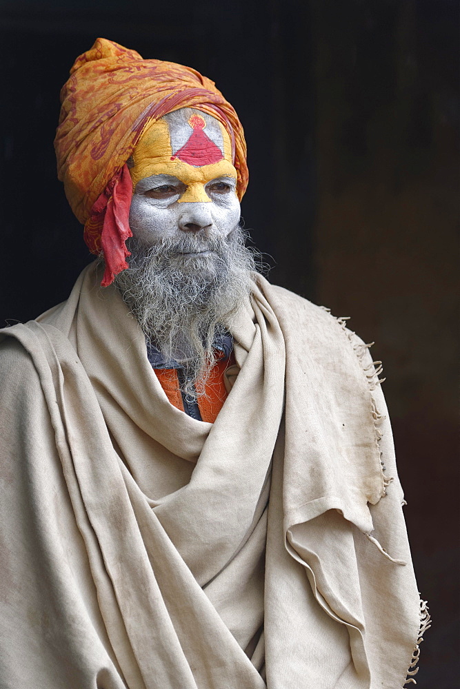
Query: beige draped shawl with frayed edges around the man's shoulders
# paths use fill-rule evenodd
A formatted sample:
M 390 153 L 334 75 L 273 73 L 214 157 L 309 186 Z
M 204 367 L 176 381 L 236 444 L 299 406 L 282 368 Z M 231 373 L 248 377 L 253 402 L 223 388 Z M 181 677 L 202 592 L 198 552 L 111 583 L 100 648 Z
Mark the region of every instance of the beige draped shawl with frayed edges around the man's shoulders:
M 419 597 L 366 346 L 257 277 L 199 422 L 98 271 L 1 331 L 1 688 L 401 688 Z

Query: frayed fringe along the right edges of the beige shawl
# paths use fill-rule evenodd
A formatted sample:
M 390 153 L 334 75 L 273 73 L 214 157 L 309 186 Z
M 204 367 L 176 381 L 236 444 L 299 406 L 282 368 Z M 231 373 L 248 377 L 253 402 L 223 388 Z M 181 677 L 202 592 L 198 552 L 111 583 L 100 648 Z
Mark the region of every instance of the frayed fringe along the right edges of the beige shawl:
M 330 309 L 326 307 L 321 307 L 323 311 L 327 311 L 330 313 Z M 332 316 L 332 313 L 330 313 Z M 381 385 L 385 378 L 379 378 L 380 374 L 383 371 L 383 365 L 381 361 L 373 361 L 370 363 L 368 366 L 364 366 L 363 364 L 363 359 L 366 356 L 366 352 L 372 345 L 374 345 L 374 342 L 370 342 L 368 345 L 363 345 L 361 342 L 356 342 L 354 340 L 354 337 L 356 336 L 356 333 L 353 331 L 349 330 L 347 328 L 347 320 L 349 320 L 350 316 L 341 316 L 339 318 L 336 318 L 336 316 L 332 316 L 332 318 L 335 318 L 337 322 L 339 323 L 341 329 L 343 330 L 344 333 L 346 333 L 346 336 L 348 337 L 348 340 L 350 340 L 350 344 L 352 345 L 354 353 L 357 355 L 357 358 L 359 359 L 359 363 L 361 364 L 361 367 L 366 375 L 366 379 L 368 381 L 369 385 L 369 391 L 370 391 L 370 399 L 371 399 L 371 414 L 372 418 L 374 420 L 374 430 L 375 430 L 375 436 L 376 436 L 376 442 L 377 442 L 377 447 L 380 447 L 380 441 L 381 438 L 383 438 L 383 433 L 380 429 L 379 424 L 383 421 L 383 414 L 379 413 L 379 410 L 377 409 L 377 405 L 375 404 L 374 396 L 372 395 L 372 392 L 376 389 L 377 385 Z M 386 466 L 383 462 L 382 459 L 382 453 L 380 452 L 380 465 L 381 465 L 381 475 L 383 479 L 383 493 L 382 497 L 386 495 L 386 489 L 390 485 L 390 483 L 393 480 L 393 477 L 386 476 Z M 407 504 L 406 500 L 403 500 L 402 504 Z M 366 533 L 366 536 L 370 540 L 371 543 L 373 543 L 379 551 L 382 553 L 382 555 L 385 555 L 386 558 L 391 560 L 391 562 L 394 562 L 395 564 L 401 564 L 404 565 L 406 562 L 403 562 L 402 560 L 397 560 L 391 557 L 385 550 L 385 548 L 382 548 L 381 544 L 377 541 L 376 538 L 372 537 L 370 533 Z M 420 595 L 420 594 L 419 594 Z M 410 665 L 408 668 L 406 680 L 403 683 L 402 689 L 408 684 L 417 684 L 417 682 L 414 680 L 414 675 L 417 675 L 417 672 L 419 672 L 419 668 L 417 667 L 417 664 L 419 662 L 419 657 L 420 657 L 420 644 L 423 641 L 423 634 L 428 630 L 431 626 L 431 616 L 430 613 L 428 612 L 430 608 L 428 608 L 427 601 L 423 601 L 420 599 L 420 626 L 419 626 L 419 633 L 417 635 L 417 642 L 415 644 L 414 652 L 412 653 L 412 660 L 410 661 Z

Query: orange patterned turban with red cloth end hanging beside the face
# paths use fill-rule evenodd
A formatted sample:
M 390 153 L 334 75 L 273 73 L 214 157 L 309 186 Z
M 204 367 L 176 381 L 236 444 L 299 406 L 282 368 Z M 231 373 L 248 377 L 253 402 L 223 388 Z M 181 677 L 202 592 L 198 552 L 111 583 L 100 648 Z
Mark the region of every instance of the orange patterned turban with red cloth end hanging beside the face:
M 135 50 L 97 39 L 70 70 L 61 104 L 54 139 L 58 177 L 85 225 L 90 251 L 103 251 L 103 285 L 128 267 L 132 183 L 126 161 L 148 123 L 181 107 L 215 117 L 232 141 L 240 199 L 246 191 L 246 142 L 237 113 L 213 81 L 189 67 L 143 60 Z

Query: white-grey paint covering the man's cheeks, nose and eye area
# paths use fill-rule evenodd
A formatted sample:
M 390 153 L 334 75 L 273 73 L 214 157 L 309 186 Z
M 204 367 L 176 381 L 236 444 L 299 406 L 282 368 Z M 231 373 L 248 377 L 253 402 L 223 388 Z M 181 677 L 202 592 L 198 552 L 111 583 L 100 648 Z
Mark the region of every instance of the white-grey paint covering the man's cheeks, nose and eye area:
M 196 234 L 227 237 L 237 226 L 241 214 L 236 181 L 229 176 L 212 179 L 205 185 L 209 201 L 182 201 L 187 186 L 179 178 L 154 174 L 141 179 L 132 196 L 130 228 L 145 246 L 163 238 Z

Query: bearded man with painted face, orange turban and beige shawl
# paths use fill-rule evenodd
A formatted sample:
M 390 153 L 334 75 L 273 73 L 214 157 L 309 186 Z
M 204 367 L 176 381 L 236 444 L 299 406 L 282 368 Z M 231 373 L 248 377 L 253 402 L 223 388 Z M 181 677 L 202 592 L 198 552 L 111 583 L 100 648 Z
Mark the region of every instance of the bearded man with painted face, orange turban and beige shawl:
M 1 687 L 402 687 L 428 613 L 380 369 L 257 274 L 234 110 L 105 39 L 61 99 L 100 258 L 1 331 Z

